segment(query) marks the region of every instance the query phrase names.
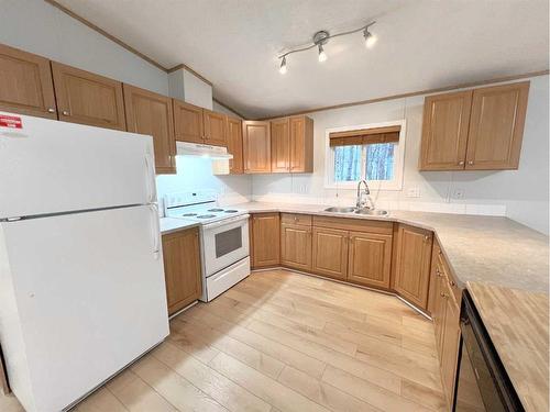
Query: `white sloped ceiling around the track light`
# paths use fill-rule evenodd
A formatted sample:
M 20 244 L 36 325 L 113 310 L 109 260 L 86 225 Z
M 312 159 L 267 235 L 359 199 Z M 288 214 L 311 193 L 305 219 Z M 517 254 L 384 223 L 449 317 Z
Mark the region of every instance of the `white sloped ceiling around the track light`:
M 548 69 L 547 0 L 57 0 L 164 67 L 185 63 L 255 119 Z M 372 20 L 324 49 L 277 54 Z

